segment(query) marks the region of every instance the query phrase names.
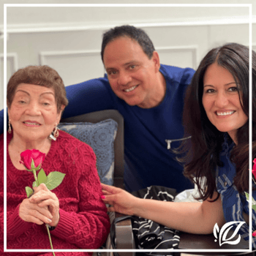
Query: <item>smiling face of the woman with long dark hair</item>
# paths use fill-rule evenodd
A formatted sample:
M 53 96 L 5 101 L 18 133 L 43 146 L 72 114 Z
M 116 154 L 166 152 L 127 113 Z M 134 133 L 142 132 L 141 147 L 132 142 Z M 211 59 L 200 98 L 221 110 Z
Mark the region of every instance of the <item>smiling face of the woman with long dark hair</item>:
M 239 85 L 227 69 L 216 63 L 206 69 L 202 99 L 206 115 L 211 124 L 220 132 L 227 132 L 235 143 L 237 129 L 248 120 L 239 93 Z

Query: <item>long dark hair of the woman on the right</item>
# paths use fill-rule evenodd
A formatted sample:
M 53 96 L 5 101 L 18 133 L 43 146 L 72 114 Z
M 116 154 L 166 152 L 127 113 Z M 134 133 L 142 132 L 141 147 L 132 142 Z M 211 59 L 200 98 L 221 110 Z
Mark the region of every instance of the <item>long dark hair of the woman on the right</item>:
M 222 150 L 224 133 L 211 124 L 203 108 L 203 77 L 206 69 L 217 63 L 227 69 L 239 83 L 241 108 L 249 117 L 249 49 L 244 45 L 230 43 L 210 50 L 195 72 L 192 82 L 187 89 L 184 104 L 185 135 L 191 135 L 189 142 L 184 142 L 179 152 L 186 152 L 182 158 L 185 162 L 184 175 L 193 179 L 199 188 L 200 199 L 212 197 L 216 191 L 215 170 L 217 165 L 222 166 L 219 153 Z M 252 95 L 256 95 L 256 53 L 252 52 Z M 252 97 L 252 152 L 256 157 L 256 100 Z M 236 177 L 234 184 L 238 192 L 249 189 L 249 120 L 240 127 L 236 134 L 238 144 L 231 153 L 231 160 L 236 164 Z M 206 177 L 202 184 L 200 177 Z

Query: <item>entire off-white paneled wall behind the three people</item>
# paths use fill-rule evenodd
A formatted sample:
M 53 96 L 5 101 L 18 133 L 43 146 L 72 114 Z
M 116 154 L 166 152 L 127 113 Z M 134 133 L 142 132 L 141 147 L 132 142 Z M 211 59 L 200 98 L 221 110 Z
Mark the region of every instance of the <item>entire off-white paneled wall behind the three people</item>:
M 35 1 L 18 1 L 26 2 Z M 53 2 L 58 1 L 44 1 Z M 225 42 L 249 45 L 248 10 L 247 7 L 7 7 L 7 80 L 12 72 L 29 64 L 55 68 L 66 86 L 100 77 L 104 73 L 99 55 L 102 33 L 128 23 L 145 29 L 163 64 L 196 68 L 213 47 Z M 256 31 L 255 20 L 253 30 Z M 0 40 L 0 49 L 2 45 Z M 256 33 L 253 47 L 256 50 Z M 0 57 L 3 88 L 1 53 Z

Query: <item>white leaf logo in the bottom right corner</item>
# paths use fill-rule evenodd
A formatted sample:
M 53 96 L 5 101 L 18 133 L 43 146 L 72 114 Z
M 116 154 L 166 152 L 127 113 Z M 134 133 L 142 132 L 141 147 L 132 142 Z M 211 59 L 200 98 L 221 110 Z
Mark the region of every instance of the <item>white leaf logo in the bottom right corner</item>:
M 230 238 L 227 238 L 228 232 L 230 231 L 230 229 L 233 227 L 235 223 L 239 223 L 239 225 L 237 225 L 236 230 L 233 232 L 232 236 L 230 236 Z M 241 240 L 240 235 L 235 241 L 230 241 L 230 240 L 232 240 L 236 236 L 236 234 L 238 233 L 238 230 L 242 225 L 244 225 L 244 223 L 245 222 L 227 222 L 225 225 L 222 226 L 222 229 L 220 231 L 219 231 L 219 226 L 216 223 L 214 225 L 214 237 L 216 238 L 214 241 L 217 242 L 219 237 L 219 246 L 222 246 L 222 244 L 238 244 Z

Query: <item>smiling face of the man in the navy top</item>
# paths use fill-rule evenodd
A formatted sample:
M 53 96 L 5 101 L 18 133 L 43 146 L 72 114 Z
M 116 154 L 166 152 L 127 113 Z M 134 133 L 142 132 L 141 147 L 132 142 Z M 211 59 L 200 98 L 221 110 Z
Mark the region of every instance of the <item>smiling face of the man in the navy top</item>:
M 151 59 L 138 42 L 119 37 L 105 47 L 103 61 L 110 86 L 128 105 L 153 108 L 159 102 L 159 57 Z

